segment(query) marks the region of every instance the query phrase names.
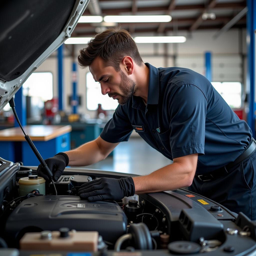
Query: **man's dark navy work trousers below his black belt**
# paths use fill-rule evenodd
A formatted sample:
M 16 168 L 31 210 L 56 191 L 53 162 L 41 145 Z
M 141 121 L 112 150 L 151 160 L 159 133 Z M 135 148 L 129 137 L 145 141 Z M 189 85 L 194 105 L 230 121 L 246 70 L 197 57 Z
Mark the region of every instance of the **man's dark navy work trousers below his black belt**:
M 225 170 L 223 170 L 225 171 Z M 229 170 L 227 175 L 202 182 L 194 178 L 189 190 L 208 197 L 229 210 L 256 219 L 256 152 Z

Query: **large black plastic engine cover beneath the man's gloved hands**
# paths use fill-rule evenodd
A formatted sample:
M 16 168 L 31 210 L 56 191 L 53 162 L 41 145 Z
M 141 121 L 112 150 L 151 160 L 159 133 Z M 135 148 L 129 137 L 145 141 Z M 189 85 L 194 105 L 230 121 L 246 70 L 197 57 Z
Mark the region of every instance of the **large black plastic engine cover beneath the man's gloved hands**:
M 59 230 L 98 231 L 115 242 L 126 233 L 127 218 L 114 201 L 88 202 L 78 196 L 39 196 L 23 200 L 10 214 L 5 231 L 18 241 L 26 232 Z

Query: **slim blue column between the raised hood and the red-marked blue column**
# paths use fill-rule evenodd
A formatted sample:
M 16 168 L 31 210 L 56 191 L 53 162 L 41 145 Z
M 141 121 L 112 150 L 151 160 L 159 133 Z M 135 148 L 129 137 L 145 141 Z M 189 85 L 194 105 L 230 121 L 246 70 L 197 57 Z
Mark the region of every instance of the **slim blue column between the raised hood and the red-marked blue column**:
M 58 48 L 58 96 L 59 110 L 63 110 L 64 105 L 64 79 L 63 79 L 63 45 Z

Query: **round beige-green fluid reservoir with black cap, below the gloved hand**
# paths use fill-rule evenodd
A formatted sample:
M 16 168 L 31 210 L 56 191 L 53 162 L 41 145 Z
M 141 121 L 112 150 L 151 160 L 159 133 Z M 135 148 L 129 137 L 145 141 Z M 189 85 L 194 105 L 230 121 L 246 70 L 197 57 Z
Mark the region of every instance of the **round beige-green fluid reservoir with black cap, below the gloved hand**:
M 20 196 L 25 196 L 34 189 L 37 189 L 40 194 L 45 195 L 45 179 L 37 175 L 29 175 L 19 179 Z

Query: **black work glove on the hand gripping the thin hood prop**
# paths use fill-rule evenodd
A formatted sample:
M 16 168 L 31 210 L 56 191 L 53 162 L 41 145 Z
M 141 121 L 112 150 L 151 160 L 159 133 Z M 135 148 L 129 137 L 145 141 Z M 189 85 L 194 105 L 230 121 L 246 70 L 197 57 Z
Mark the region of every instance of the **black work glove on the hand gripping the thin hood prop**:
M 65 167 L 68 165 L 69 158 L 66 153 L 60 152 L 57 155 L 45 159 L 45 163 L 48 165 L 49 169 L 53 173 L 53 180 L 57 181 L 59 177 L 62 175 Z M 49 177 L 46 173 L 44 173 L 43 167 L 41 164 L 37 167 L 37 175 L 43 177 L 45 180 L 49 180 Z M 51 177 L 50 177 L 51 178 Z

